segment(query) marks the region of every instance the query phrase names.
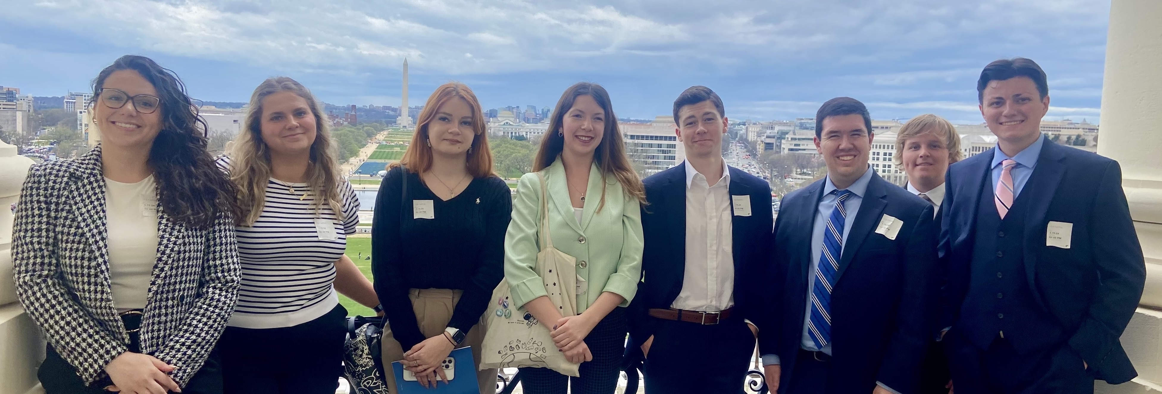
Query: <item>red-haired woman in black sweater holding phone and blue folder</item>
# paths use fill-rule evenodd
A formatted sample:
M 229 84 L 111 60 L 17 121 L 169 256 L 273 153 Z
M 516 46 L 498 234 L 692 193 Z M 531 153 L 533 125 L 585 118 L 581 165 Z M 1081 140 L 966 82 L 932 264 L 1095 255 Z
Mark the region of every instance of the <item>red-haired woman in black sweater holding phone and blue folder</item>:
M 393 166 L 379 187 L 372 271 L 389 321 L 383 364 L 403 360 L 431 387 L 453 349 L 472 346 L 480 363 L 485 332 L 474 327 L 504 275 L 512 198 L 493 173 L 483 113 L 472 89 L 459 83 L 436 88 L 417 124 L 401 166 Z M 495 370 L 476 377 L 480 393 L 496 389 Z M 395 389 L 394 374 L 385 378 Z

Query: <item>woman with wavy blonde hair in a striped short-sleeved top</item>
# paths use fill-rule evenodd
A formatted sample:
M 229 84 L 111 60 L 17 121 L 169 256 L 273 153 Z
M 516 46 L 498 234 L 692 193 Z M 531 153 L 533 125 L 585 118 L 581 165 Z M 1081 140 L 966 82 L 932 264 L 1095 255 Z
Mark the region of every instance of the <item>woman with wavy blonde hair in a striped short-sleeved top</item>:
M 359 200 L 339 174 L 322 102 L 287 77 L 254 88 L 243 129 L 218 158 L 238 189 L 238 306 L 222 334 L 225 393 L 332 394 L 347 310 L 379 309 L 344 255 Z

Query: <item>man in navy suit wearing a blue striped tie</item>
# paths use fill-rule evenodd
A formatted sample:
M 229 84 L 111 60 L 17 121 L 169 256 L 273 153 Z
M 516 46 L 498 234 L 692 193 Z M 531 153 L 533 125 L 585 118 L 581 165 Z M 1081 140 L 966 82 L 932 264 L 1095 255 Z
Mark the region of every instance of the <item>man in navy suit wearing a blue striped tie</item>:
M 938 230 L 932 205 L 868 166 L 873 138 L 862 102 L 825 102 L 815 145 L 827 177 L 779 209 L 777 278 L 765 286 L 777 324 L 759 348 L 782 393 L 911 394 L 919 382 L 935 331 Z

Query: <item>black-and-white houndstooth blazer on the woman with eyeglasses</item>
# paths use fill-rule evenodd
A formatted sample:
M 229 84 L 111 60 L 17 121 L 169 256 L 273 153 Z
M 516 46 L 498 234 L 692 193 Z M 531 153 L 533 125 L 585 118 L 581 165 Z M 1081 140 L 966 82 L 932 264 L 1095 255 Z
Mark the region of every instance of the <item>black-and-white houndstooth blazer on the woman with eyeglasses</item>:
M 178 224 L 158 206 L 157 263 L 141 325 L 141 351 L 177 367 L 185 386 L 225 328 L 241 280 L 234 223 Z M 33 166 L 13 231 L 16 295 L 49 343 L 86 384 L 128 351 L 113 306 L 101 146 Z

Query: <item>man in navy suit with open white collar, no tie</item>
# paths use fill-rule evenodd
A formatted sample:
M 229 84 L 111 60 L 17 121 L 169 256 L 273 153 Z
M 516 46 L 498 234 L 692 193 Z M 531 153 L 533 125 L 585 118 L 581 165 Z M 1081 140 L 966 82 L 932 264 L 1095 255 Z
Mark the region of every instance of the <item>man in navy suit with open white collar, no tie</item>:
M 770 185 L 723 160 L 727 121 L 710 88 L 682 92 L 674 121 L 687 158 L 644 181 L 629 349 L 645 356 L 646 393 L 741 394 L 765 321 L 755 295 L 769 285 Z

